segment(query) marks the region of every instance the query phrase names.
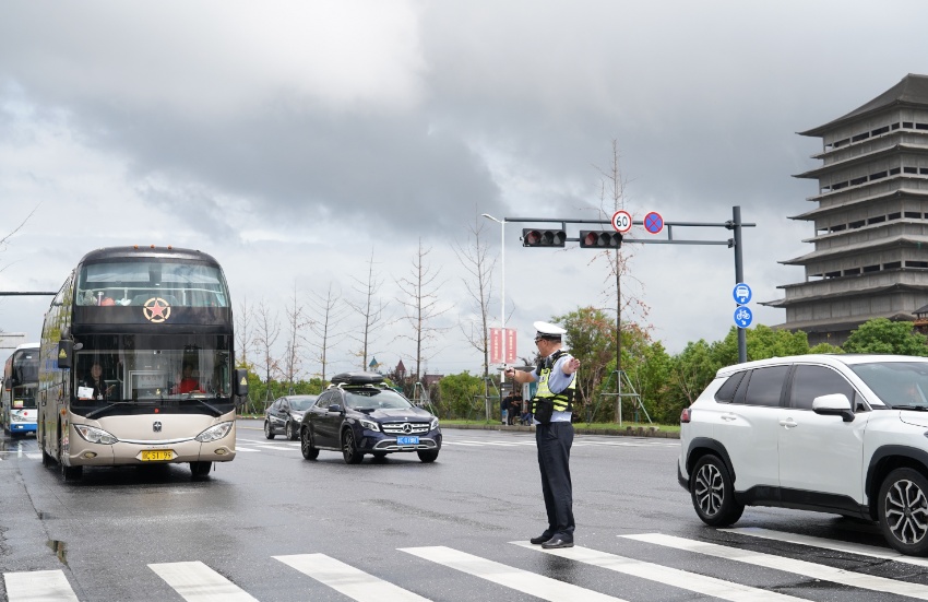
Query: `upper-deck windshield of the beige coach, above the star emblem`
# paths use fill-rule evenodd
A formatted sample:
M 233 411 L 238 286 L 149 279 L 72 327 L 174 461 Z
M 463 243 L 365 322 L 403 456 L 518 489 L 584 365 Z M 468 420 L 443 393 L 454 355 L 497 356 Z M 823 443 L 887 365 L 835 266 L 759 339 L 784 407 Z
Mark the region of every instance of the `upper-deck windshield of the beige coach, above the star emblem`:
M 216 265 L 136 259 L 86 263 L 78 275 L 78 305 L 143 306 L 162 299 L 170 306 L 228 307 Z

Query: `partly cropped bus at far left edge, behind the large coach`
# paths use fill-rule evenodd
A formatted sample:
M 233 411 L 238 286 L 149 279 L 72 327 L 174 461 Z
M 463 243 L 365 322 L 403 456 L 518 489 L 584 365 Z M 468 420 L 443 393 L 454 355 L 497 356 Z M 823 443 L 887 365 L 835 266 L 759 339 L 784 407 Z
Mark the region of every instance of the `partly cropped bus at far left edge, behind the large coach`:
M 0 424 L 11 437 L 35 433 L 38 343 L 26 343 L 7 358 L 0 390 Z

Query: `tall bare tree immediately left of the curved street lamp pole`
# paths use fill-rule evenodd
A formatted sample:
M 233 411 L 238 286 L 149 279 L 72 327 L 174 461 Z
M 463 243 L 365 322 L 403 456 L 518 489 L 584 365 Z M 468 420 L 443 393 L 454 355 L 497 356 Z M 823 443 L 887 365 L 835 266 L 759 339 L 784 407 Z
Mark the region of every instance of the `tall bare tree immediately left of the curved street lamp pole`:
M 467 241 L 465 245 L 455 243 L 452 245 L 457 261 L 464 267 L 468 276 L 464 280 L 464 286 L 471 296 L 472 308 L 479 312 L 479 330 L 471 322 L 465 327 L 461 323 L 461 330 L 471 346 L 484 356 L 484 378 L 489 376 L 489 330 L 488 316 L 490 295 L 492 294 L 492 272 L 496 268 L 496 259 L 487 257 L 487 244 L 481 240 L 484 222 L 479 216 L 474 217 L 474 225 L 467 228 Z M 469 330 L 469 332 L 468 332 Z

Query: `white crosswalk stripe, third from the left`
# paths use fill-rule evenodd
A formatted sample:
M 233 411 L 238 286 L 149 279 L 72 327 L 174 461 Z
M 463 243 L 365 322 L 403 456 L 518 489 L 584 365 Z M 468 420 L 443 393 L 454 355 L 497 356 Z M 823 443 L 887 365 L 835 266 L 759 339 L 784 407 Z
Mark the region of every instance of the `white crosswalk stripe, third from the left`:
M 294 554 L 274 558 L 358 602 L 428 602 L 428 598 L 404 590 L 325 554 Z

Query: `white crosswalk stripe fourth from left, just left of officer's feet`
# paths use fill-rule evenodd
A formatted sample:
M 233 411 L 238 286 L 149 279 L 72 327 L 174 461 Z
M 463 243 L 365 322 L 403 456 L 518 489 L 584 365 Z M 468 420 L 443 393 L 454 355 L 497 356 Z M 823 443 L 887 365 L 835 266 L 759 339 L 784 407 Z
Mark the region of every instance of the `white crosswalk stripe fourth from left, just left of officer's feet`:
M 398 550 L 549 602 L 578 602 L 580 600 L 583 602 L 624 602 L 621 598 L 614 598 L 544 575 L 487 560 L 443 545 L 400 547 Z

